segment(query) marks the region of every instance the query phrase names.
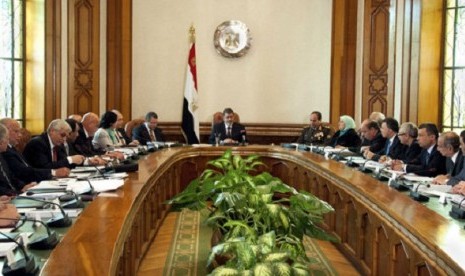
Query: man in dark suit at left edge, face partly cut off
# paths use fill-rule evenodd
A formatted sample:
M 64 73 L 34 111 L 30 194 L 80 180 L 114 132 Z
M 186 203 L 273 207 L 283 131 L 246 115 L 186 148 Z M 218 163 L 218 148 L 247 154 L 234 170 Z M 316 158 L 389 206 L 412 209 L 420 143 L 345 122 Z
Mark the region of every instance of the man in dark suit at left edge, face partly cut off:
M 8 129 L 0 124 L 0 152 L 3 153 L 8 148 L 9 137 Z M 17 179 L 10 170 L 8 163 L 0 154 L 0 195 L 12 196 L 25 192 L 27 189 L 37 185 L 35 182 L 25 184 L 25 182 Z

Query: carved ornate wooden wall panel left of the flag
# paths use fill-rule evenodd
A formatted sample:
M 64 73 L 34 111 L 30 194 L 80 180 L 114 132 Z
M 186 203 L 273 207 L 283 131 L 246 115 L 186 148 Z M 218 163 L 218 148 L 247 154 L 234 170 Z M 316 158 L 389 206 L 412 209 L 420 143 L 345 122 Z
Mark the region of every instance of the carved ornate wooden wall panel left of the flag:
M 100 2 L 68 4 L 68 113 L 99 114 Z

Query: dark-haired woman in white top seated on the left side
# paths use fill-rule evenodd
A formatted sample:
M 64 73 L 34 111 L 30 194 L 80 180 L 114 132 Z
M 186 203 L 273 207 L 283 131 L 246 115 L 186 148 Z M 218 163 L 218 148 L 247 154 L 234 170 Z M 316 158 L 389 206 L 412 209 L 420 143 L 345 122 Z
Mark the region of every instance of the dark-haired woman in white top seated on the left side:
M 120 146 L 116 136 L 116 121 L 117 115 L 111 111 L 103 113 L 100 118 L 100 125 L 97 132 L 94 134 L 92 145 L 96 149 L 110 150 L 116 146 Z

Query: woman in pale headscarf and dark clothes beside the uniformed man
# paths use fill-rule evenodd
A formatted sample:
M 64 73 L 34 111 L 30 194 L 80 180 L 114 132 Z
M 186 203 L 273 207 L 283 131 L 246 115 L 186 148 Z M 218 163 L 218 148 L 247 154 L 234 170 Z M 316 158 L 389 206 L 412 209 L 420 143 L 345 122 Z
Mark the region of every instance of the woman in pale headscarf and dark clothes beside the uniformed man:
M 342 115 L 338 123 L 339 130 L 334 133 L 328 145 L 331 147 L 358 147 L 361 139 L 355 131 L 355 121 L 352 117 Z

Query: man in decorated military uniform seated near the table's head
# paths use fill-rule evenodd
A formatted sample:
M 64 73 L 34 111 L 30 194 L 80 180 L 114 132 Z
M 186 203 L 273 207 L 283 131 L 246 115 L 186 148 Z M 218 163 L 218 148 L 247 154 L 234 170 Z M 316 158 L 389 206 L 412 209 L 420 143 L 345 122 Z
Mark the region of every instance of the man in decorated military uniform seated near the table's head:
M 324 145 L 329 142 L 332 136 L 332 129 L 321 123 L 321 113 L 319 111 L 313 111 L 310 114 L 310 126 L 302 130 L 302 134 L 300 134 L 299 139 L 297 139 L 297 143 Z

